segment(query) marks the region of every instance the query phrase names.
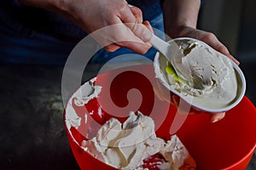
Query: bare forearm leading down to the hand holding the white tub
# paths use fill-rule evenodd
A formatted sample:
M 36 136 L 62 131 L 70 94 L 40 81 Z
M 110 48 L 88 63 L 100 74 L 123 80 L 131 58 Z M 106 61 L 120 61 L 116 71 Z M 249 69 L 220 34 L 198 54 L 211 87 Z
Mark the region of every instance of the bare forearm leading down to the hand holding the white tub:
M 177 37 L 183 26 L 196 27 L 201 0 L 165 0 L 163 14 L 166 34 Z

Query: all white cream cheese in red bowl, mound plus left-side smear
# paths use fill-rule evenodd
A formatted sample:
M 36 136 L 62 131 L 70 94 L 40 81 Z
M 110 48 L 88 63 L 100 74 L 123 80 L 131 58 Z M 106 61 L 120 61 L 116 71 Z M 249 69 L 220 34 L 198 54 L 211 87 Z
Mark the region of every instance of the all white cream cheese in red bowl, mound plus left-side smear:
M 73 102 L 75 105 L 84 106 L 90 99 L 97 98 L 102 87 L 95 86 L 95 81 L 94 78 L 90 82 L 84 83 L 82 88 L 76 91 L 69 100 L 66 108 L 68 129 L 71 127 L 78 129 L 81 123 L 86 123 L 86 118 L 85 122 L 81 122 L 83 118 L 77 115 L 73 108 Z M 84 114 L 86 117 L 87 113 Z M 191 167 L 195 169 L 195 161 L 186 163 L 188 158 L 189 160 L 193 159 L 177 136 L 172 136 L 171 140 L 167 142 L 157 138 L 154 133 L 153 119 L 144 116 L 139 111 L 137 115 L 131 112 L 124 123 L 112 118 L 104 125 L 99 125 L 100 127 L 98 124 L 96 125 L 97 133 L 94 133 L 90 140 L 84 140 L 81 147 L 96 159 L 104 161 L 110 166 L 123 170 L 147 170 L 142 167 L 143 160 L 160 153 L 167 161 L 159 166 L 160 170 L 178 169 L 187 164 L 192 165 Z

